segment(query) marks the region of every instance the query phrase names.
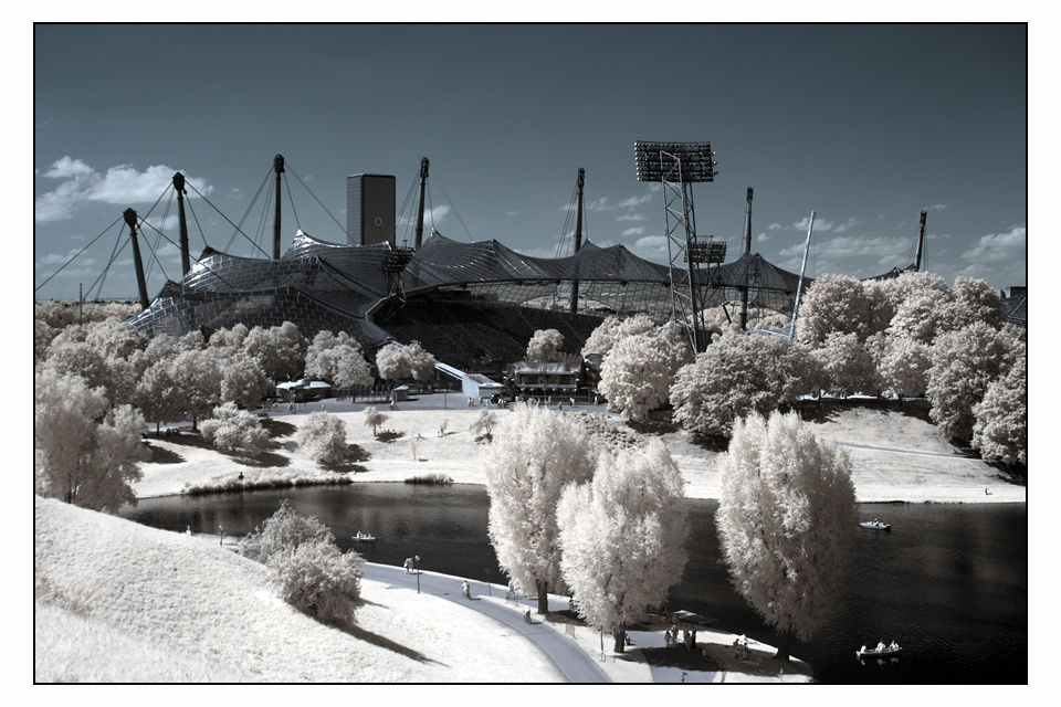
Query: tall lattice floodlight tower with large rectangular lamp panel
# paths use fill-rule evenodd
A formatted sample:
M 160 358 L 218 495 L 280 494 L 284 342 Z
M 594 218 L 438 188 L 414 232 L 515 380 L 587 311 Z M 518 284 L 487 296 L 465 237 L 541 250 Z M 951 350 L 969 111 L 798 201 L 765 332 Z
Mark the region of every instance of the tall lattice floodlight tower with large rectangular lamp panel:
M 663 187 L 663 211 L 666 218 L 666 250 L 670 256 L 671 314 L 685 330 L 693 354 L 700 354 L 696 326 L 700 317 L 700 292 L 696 273 L 700 263 L 719 256 L 716 244 L 696 242 L 696 218 L 693 212 L 694 182 L 714 181 L 715 161 L 711 143 L 634 143 L 638 181 L 658 181 Z M 706 246 L 706 247 L 704 247 Z M 725 256 L 722 250 L 721 256 Z M 718 262 L 722 262 L 718 260 Z M 681 282 L 684 263 L 685 283 Z

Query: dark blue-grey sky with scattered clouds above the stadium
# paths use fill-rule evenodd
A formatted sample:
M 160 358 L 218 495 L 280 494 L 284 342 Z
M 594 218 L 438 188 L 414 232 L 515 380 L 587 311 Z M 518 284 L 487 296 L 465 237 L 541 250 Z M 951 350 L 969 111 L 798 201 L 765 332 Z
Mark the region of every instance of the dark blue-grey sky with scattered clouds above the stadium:
M 300 229 L 346 242 L 356 173 L 395 176 L 411 241 L 427 157 L 426 232 L 569 254 L 584 168 L 585 236 L 666 263 L 637 140 L 711 144 L 696 232 L 726 262 L 750 187 L 753 251 L 790 272 L 811 212 L 807 275 L 864 278 L 913 262 L 927 210 L 922 270 L 1026 285 L 1027 40 L 968 23 L 38 24 L 34 296 L 135 297 L 129 208 L 165 234 L 140 230 L 145 254 L 160 246 L 149 296 L 180 279 L 177 171 L 193 256 L 264 257 L 277 154 L 282 250 Z

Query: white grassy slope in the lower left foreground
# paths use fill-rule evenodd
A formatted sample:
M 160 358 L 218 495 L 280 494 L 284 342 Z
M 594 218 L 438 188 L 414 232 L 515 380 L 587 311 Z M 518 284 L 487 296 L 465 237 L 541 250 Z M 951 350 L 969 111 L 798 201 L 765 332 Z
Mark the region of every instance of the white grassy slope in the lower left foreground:
M 453 602 L 364 581 L 340 631 L 207 539 L 34 504 L 36 682 L 559 680 L 525 639 Z

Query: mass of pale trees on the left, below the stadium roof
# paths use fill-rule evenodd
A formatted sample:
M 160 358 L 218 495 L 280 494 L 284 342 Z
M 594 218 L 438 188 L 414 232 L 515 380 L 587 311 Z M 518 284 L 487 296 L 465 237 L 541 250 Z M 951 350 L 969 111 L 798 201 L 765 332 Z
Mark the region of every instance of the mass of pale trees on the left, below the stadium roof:
M 84 324 L 70 307 L 38 305 L 34 317 L 35 487 L 43 496 L 116 511 L 134 502 L 130 484 L 148 458 L 140 433 L 151 423 L 191 421 L 227 451 L 261 451 L 269 434 L 251 414 L 279 380 L 303 376 L 338 388 L 376 378 L 361 346 L 346 333 L 309 341 L 294 324 L 235 325 L 213 333 L 151 339 L 115 314 L 90 308 Z M 434 358 L 418 342 L 388 345 L 376 357 L 384 379 L 427 380 Z M 301 431 L 312 458 L 340 461 L 345 429 L 313 420 Z

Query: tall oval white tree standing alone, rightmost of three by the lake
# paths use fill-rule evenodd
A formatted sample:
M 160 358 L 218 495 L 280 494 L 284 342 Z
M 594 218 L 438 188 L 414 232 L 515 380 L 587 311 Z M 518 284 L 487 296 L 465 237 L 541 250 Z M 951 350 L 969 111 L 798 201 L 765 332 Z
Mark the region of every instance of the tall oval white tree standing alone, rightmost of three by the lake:
M 779 636 L 810 640 L 843 590 L 857 524 L 850 461 L 795 412 L 733 426 L 716 523 L 734 588 Z

